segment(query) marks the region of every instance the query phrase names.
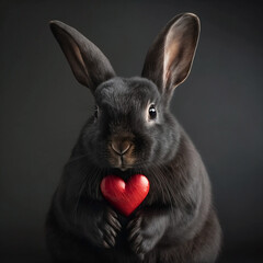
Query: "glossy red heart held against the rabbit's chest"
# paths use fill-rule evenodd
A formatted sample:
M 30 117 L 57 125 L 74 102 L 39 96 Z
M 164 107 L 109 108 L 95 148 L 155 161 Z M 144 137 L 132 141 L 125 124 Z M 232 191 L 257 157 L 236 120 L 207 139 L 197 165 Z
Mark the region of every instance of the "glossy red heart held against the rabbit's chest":
M 128 182 L 107 175 L 101 182 L 103 196 L 125 216 L 129 216 L 149 193 L 150 184 L 142 174 L 133 175 Z

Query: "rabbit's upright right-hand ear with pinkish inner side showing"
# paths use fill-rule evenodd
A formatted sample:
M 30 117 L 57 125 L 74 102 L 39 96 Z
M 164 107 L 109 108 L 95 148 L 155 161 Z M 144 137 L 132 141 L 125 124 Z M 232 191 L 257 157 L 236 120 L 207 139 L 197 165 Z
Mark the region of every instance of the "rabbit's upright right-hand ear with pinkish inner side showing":
M 150 47 L 142 77 L 152 80 L 161 93 L 170 96 L 190 73 L 198 36 L 199 20 L 195 14 L 173 18 Z

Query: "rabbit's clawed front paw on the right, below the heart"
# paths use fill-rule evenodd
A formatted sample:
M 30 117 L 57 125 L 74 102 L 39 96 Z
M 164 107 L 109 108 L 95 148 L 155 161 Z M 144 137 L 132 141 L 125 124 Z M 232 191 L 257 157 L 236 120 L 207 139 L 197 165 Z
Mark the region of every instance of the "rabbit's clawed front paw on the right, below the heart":
M 130 249 L 144 260 L 161 240 L 169 226 L 169 215 L 165 210 L 141 209 L 127 225 Z

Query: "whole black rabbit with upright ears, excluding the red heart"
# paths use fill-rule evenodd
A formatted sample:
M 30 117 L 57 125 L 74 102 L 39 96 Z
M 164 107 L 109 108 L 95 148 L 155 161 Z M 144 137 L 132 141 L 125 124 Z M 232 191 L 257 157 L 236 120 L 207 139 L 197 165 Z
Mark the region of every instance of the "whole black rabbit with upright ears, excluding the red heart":
M 193 13 L 174 16 L 149 48 L 141 77 L 117 77 L 108 59 L 77 30 L 50 21 L 76 79 L 94 96 L 53 196 L 46 243 L 56 263 L 211 263 L 221 228 L 205 165 L 170 112 L 190 73 L 199 37 Z M 144 174 L 147 197 L 124 216 L 103 197 L 108 174 Z

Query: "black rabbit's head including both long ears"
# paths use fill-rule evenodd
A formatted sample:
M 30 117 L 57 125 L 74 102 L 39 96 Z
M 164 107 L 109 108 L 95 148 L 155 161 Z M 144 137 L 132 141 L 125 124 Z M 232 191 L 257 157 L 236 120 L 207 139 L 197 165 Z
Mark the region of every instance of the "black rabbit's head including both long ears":
M 176 85 L 192 66 L 198 18 L 173 18 L 150 47 L 141 77 L 116 77 L 102 52 L 75 28 L 50 22 L 77 80 L 95 99 L 95 112 L 84 126 L 81 145 L 100 168 L 122 171 L 164 163 L 174 157 L 180 127 L 169 111 Z

